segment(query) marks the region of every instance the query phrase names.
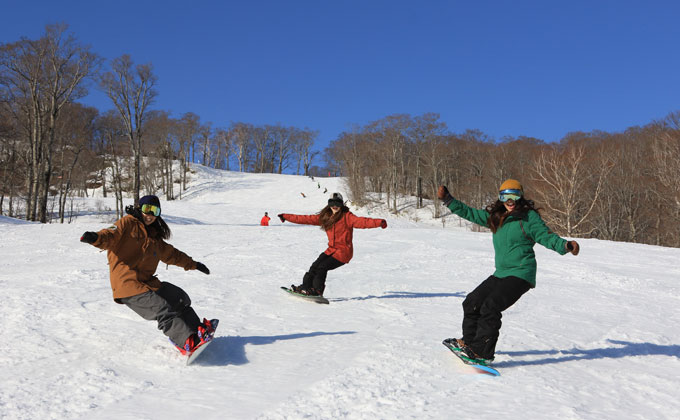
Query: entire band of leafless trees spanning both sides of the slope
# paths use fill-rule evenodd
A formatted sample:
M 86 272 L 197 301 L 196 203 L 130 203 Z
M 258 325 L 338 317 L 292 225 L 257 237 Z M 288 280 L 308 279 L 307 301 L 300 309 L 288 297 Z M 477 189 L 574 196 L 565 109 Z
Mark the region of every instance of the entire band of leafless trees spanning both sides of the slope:
M 213 127 L 187 112 L 153 110 L 151 64 L 102 57 L 48 25 L 39 39 L 0 44 L 0 214 L 64 221 L 69 198 L 102 187 L 135 202 L 140 191 L 181 198 L 189 163 L 248 172 L 318 175 L 307 128 L 232 122 Z M 78 103 L 101 89 L 111 110 Z M 558 143 L 500 142 L 478 130 L 452 133 L 439 115 L 391 115 L 342 133 L 323 170 L 347 177 L 352 199 L 435 197 L 446 184 L 481 208 L 498 185 L 519 179 L 558 233 L 680 246 L 680 113 L 621 133 L 575 132 Z M 71 200 L 72 203 L 73 200 Z M 441 206 L 433 206 L 440 217 Z

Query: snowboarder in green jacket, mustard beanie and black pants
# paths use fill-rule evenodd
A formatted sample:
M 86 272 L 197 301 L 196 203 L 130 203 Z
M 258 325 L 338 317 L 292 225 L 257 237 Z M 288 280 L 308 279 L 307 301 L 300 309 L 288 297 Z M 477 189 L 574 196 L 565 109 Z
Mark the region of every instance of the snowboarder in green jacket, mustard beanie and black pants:
M 493 233 L 496 271 L 463 301 L 463 337 L 444 340 L 444 344 L 460 349 L 461 355 L 470 361 L 488 364 L 496 351 L 501 312 L 536 287 L 534 244 L 561 255 L 567 252 L 578 255 L 579 245 L 548 229 L 534 202 L 524 197 L 524 189 L 517 180 L 503 182 L 498 200 L 485 209 L 474 209 L 456 200 L 443 185 L 437 197 L 452 213 L 488 227 Z

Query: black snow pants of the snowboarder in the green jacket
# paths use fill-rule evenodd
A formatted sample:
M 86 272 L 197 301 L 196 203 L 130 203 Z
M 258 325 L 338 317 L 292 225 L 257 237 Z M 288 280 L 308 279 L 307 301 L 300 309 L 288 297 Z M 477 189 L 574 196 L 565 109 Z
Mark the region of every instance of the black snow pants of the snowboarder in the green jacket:
M 484 280 L 463 301 L 463 341 L 484 359 L 493 359 L 501 329 L 501 312 L 531 288 L 519 277 Z

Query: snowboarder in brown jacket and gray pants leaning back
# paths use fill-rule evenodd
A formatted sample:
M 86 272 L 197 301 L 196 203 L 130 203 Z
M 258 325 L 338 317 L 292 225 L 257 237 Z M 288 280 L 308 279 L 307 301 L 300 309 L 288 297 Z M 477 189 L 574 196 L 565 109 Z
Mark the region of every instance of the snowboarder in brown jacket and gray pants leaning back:
M 210 274 L 204 264 L 165 242 L 168 225 L 161 217 L 161 204 L 147 195 L 113 226 L 99 232 L 85 232 L 81 242 L 107 250 L 113 300 L 124 304 L 142 318 L 158 322 L 158 329 L 170 338 L 182 354 L 188 354 L 212 339 L 217 320 L 203 322 L 191 307 L 184 290 L 154 275 L 158 262 L 185 270 Z

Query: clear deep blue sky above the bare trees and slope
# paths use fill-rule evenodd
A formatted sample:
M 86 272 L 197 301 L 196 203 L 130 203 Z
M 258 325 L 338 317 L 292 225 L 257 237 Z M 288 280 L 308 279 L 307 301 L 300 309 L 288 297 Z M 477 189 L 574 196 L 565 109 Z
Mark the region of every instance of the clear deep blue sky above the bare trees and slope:
M 319 130 L 437 112 L 557 141 L 680 110 L 678 1 L 0 0 L 0 42 L 66 22 L 159 78 L 154 109 Z M 101 93 L 83 102 L 111 108 Z

